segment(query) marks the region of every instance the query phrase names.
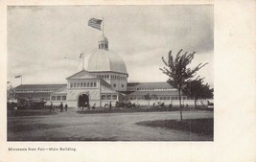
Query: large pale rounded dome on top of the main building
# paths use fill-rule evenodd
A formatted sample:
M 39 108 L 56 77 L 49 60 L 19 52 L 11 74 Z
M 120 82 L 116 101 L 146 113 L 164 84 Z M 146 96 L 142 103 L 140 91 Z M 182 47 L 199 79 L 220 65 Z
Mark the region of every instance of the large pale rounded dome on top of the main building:
M 91 55 L 88 59 L 87 70 L 91 72 L 111 71 L 128 74 L 124 60 L 117 54 L 105 49 L 98 49 Z

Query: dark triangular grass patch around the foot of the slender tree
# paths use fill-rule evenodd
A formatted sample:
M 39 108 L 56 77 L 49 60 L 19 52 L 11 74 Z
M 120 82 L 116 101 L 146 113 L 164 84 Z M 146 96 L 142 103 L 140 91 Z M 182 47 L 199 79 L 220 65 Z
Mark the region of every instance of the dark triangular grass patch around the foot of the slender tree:
M 190 131 L 203 136 L 213 137 L 214 123 L 213 119 L 188 119 L 181 121 L 162 120 L 162 121 L 143 121 L 136 125 L 146 127 L 163 127 L 176 130 Z

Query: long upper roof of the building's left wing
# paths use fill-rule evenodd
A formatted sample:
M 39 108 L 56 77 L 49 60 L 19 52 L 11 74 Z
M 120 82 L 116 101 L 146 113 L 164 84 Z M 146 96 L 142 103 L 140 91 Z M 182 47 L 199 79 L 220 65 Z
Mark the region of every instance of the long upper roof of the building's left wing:
M 15 89 L 58 89 L 63 86 L 67 86 L 67 84 L 21 84 L 16 86 Z

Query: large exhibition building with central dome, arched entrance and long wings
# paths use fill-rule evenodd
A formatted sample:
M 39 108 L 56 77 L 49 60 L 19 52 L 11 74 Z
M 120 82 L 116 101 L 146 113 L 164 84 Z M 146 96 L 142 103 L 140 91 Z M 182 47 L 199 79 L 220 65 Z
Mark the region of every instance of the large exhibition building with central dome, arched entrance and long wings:
M 90 56 L 88 67 L 67 76 L 63 84 L 21 84 L 15 87 L 16 99 L 33 99 L 47 104 L 78 106 L 81 100 L 96 107 L 110 102 L 132 104 L 165 103 L 177 104 L 178 93 L 168 82 L 128 82 L 125 61 L 108 51 L 108 40 L 103 35 L 98 41 L 98 50 Z M 82 60 L 83 61 L 83 60 Z M 64 82 L 64 81 L 63 81 Z M 146 96 L 151 98 L 146 99 Z M 182 96 L 182 101 L 187 100 Z

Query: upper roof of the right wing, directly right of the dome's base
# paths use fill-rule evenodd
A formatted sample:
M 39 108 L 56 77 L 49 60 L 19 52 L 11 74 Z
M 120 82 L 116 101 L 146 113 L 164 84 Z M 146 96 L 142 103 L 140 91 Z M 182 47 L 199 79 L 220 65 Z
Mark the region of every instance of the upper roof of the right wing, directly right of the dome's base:
M 166 87 L 173 87 L 168 82 L 128 82 L 129 87 L 138 87 L 138 88 L 166 88 Z

